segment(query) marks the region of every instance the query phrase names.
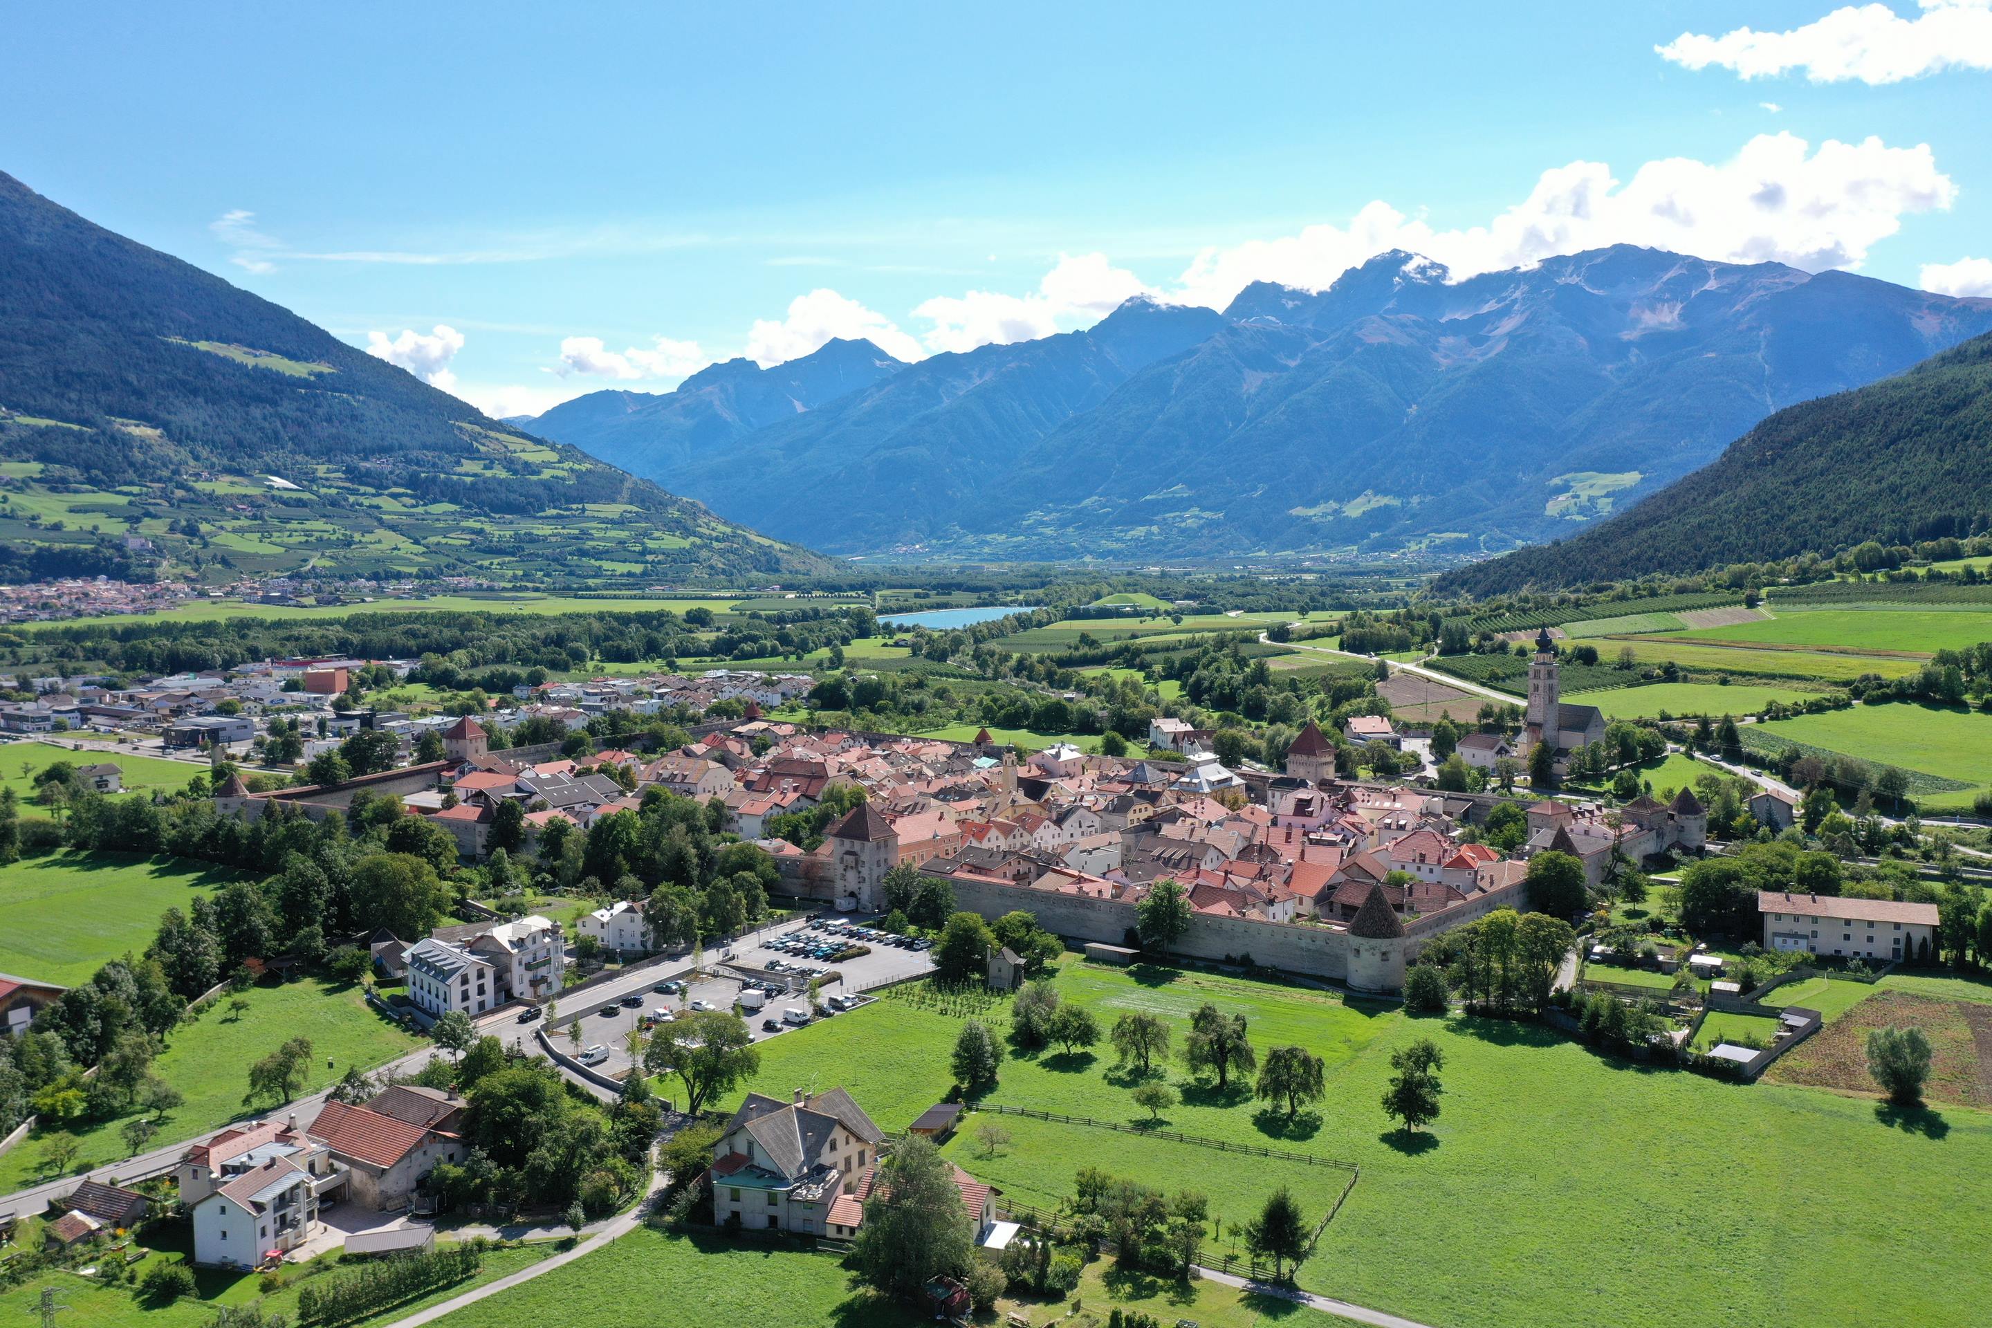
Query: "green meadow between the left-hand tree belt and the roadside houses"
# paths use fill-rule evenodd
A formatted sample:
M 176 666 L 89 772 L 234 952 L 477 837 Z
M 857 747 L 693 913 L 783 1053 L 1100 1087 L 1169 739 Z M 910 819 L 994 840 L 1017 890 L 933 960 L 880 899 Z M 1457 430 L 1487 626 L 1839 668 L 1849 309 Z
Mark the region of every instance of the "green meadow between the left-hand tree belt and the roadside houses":
M 229 1013 L 229 996 L 223 996 L 193 1023 L 181 1023 L 153 1061 L 153 1073 L 187 1099 L 167 1113 L 159 1127 L 161 1141 L 201 1135 L 237 1117 L 279 1111 L 279 1103 L 271 1101 L 251 1109 L 243 1093 L 249 1089 L 249 1065 L 291 1037 L 311 1039 L 303 1093 L 331 1085 L 353 1065 L 373 1069 L 420 1045 L 420 1039 L 373 1011 L 353 986 L 307 978 L 275 988 L 249 988 L 243 999 L 249 1009 L 241 1017 Z M 124 1117 L 76 1129 L 82 1151 L 72 1169 L 129 1157 L 120 1125 Z M 0 1155 L 0 1195 L 48 1179 L 38 1139 L 42 1131 Z

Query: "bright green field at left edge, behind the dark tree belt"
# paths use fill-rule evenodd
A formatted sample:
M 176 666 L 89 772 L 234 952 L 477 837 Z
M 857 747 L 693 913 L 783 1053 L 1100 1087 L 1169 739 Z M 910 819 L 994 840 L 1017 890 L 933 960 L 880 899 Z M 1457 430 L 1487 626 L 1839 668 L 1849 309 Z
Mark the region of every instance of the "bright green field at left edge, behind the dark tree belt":
M 141 954 L 167 908 L 235 878 L 175 858 L 74 854 L 0 870 L 0 974 L 72 988 L 110 960 Z

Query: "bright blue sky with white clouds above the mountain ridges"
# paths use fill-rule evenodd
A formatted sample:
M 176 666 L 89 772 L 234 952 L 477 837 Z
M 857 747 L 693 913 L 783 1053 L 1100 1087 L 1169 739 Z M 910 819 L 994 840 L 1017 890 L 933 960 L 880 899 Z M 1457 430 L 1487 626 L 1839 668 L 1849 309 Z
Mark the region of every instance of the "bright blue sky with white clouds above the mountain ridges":
M 32 6 L 0 169 L 506 412 L 1390 245 L 1992 295 L 1992 0 L 1924 2 Z

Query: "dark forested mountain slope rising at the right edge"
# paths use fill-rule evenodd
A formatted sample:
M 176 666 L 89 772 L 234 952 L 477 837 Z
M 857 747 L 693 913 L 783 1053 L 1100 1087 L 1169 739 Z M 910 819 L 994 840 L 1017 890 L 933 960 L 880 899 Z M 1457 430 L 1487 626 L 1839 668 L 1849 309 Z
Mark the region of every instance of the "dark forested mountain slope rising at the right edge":
M 1974 336 L 1896 378 L 1787 406 L 1629 512 L 1448 571 L 1438 589 L 1494 595 L 1984 530 L 1992 336 Z

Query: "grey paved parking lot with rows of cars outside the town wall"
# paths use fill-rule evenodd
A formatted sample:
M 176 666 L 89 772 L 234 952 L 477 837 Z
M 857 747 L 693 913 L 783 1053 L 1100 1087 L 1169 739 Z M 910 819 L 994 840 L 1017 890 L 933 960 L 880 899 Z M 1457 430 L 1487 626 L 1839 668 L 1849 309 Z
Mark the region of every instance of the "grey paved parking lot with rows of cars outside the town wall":
M 562 1017 L 556 1027 L 548 1029 L 548 1037 L 554 1039 L 556 1047 L 572 1053 L 574 1041 L 568 1025 L 580 1023 L 582 1049 L 600 1047 L 604 1053 L 596 1069 L 620 1077 L 629 1067 L 629 1029 L 647 1025 L 663 1011 L 675 1017 L 697 1005 L 733 1009 L 745 988 L 751 992 L 749 1003 L 755 1001 L 755 996 L 761 999 L 761 1009 L 743 1013 L 755 1041 L 763 1041 L 795 1027 L 783 1021 L 785 1009 L 791 1005 L 809 1009 L 811 978 L 839 974 L 837 982 L 829 982 L 821 990 L 825 1009 L 829 1017 L 835 1017 L 841 999 L 857 999 L 861 990 L 916 978 L 934 968 L 932 952 L 900 948 L 886 934 L 871 932 L 867 922 L 841 916 L 821 918 L 817 926 L 795 924 L 773 934 L 763 932 L 755 940 L 761 944 L 707 952 L 709 976 L 691 982 L 689 988 L 683 974 L 667 978 L 659 970 L 657 980 L 639 992 L 629 992 L 602 1009 L 590 1003 L 576 1019 Z M 871 954 L 855 960 L 831 960 L 829 954 L 843 946 L 869 946 Z M 671 990 L 655 990 L 665 986 Z M 635 1003 L 629 1003 L 631 999 Z M 522 1033 L 530 1043 L 530 1029 L 522 1029 Z M 665 1091 L 669 1093 L 669 1089 Z

